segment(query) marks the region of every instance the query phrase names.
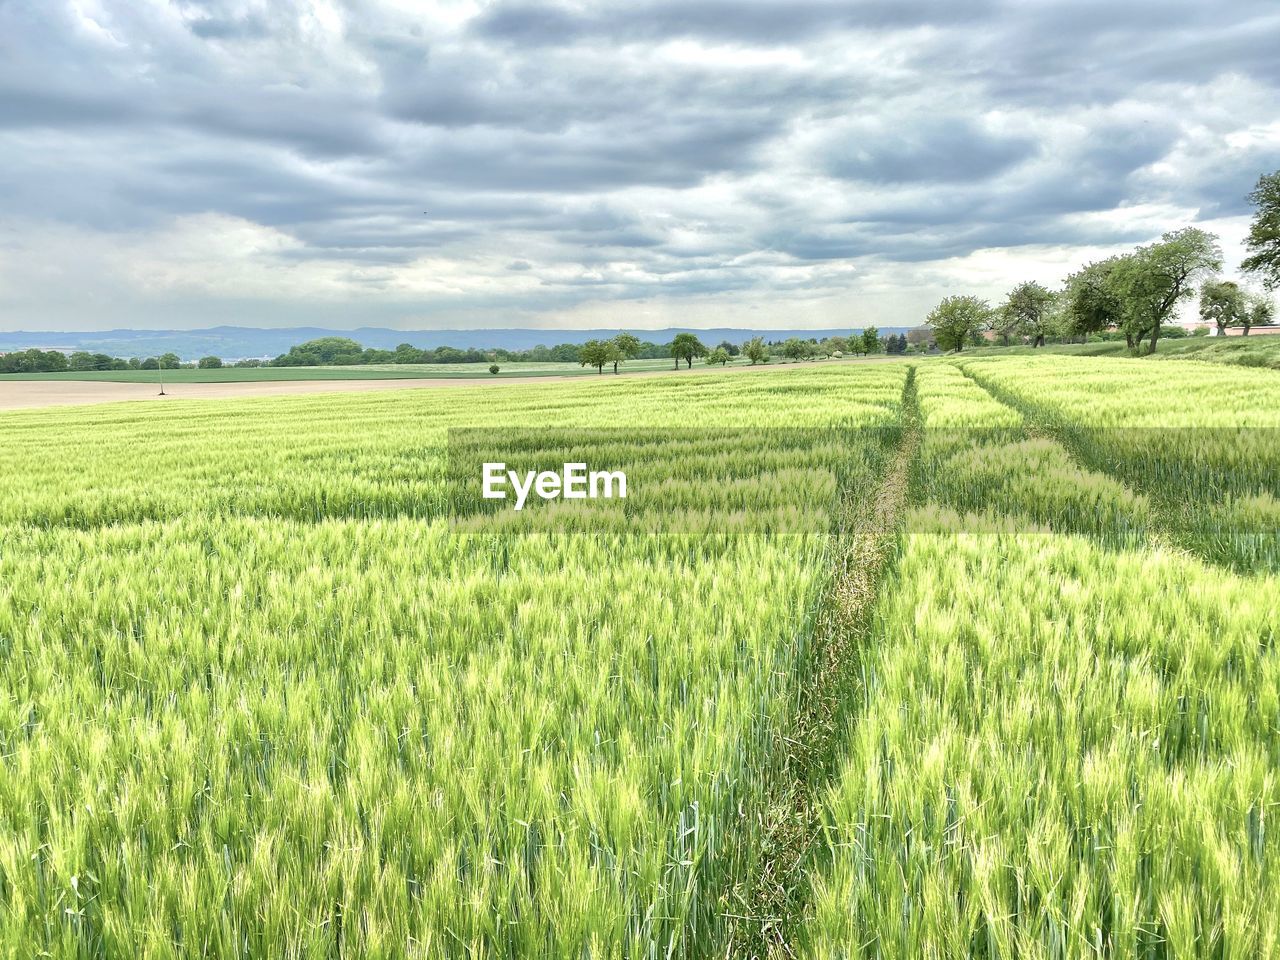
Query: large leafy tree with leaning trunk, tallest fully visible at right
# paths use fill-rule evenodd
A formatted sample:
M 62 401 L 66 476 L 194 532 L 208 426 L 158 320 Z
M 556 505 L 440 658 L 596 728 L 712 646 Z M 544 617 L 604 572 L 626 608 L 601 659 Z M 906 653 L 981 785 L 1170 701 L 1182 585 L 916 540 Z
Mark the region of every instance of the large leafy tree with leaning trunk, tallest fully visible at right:
M 1178 305 L 1196 294 L 1201 276 L 1221 269 L 1217 237 L 1197 227 L 1166 233 L 1158 242 L 1121 257 L 1111 283 L 1123 303 L 1120 329 L 1129 348 L 1149 338 L 1147 353 L 1155 353 L 1160 328 L 1172 319 Z

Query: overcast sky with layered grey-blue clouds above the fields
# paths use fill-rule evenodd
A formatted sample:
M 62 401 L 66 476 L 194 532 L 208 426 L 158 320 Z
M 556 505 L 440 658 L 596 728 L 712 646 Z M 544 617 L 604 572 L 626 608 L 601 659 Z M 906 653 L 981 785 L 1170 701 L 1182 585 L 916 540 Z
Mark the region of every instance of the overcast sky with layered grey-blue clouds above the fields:
M 0 329 L 914 325 L 1280 169 L 1275 0 L 0 0 Z

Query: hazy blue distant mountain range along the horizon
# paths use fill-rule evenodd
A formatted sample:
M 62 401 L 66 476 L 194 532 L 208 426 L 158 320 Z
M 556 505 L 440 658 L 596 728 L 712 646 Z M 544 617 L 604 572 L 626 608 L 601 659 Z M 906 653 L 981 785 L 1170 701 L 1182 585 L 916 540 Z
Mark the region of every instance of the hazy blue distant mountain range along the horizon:
M 883 326 L 882 334 L 904 333 L 906 326 Z M 314 340 L 317 337 L 349 337 L 364 347 L 393 349 L 401 343 L 411 343 L 426 349 L 434 347 L 529 349 L 538 344 L 552 347 L 557 343 L 584 343 L 591 339 L 604 339 L 620 333 L 617 328 L 595 330 L 532 330 L 532 329 L 490 329 L 490 330 L 388 330 L 381 326 L 361 326 L 356 330 L 325 330 L 319 326 L 289 326 L 264 330 L 255 326 L 211 326 L 206 330 L 93 330 L 72 333 L 54 332 L 0 332 L 0 353 L 38 347 L 41 349 L 78 349 L 90 353 L 109 353 L 113 357 L 154 357 L 161 353 L 177 353 L 183 360 L 200 357 L 221 357 L 223 360 L 243 360 L 246 357 L 275 357 L 296 343 Z M 741 343 L 751 337 L 765 340 L 785 340 L 788 337 L 808 339 L 817 337 L 847 337 L 851 330 L 750 330 L 736 326 L 717 326 L 694 329 L 691 326 L 671 326 L 664 330 L 630 329 L 641 340 L 669 343 L 677 333 L 694 333 L 714 346 L 721 340 Z

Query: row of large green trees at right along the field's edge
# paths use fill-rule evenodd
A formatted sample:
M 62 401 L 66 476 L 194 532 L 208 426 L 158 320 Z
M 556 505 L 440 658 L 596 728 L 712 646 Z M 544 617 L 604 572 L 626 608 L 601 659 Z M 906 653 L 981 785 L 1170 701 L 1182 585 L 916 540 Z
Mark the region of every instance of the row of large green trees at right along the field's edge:
M 1240 269 L 1258 276 L 1267 291 L 1280 288 L 1280 172 L 1262 177 L 1249 201 L 1257 207 Z M 1156 243 L 1088 264 L 1066 278 L 1061 289 L 1027 282 L 992 306 L 973 296 L 945 297 L 928 315 L 942 349 L 964 349 L 996 339 L 1043 347 L 1048 339 L 1111 334 L 1130 351 L 1156 352 L 1170 335 L 1180 306 L 1199 296 L 1199 316 L 1225 334 L 1275 323 L 1275 303 L 1256 291 L 1219 276 L 1219 238 L 1196 227 L 1164 234 Z M 1180 330 L 1180 328 L 1176 328 Z

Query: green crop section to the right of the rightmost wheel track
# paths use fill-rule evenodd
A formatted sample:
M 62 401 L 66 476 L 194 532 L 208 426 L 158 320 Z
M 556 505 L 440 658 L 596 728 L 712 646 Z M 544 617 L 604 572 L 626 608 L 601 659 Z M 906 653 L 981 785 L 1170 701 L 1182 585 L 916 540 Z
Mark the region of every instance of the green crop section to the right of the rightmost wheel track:
M 1101 379 L 1079 361 L 963 361 L 966 375 L 1024 412 L 1091 470 L 1151 503 L 1175 545 L 1242 573 L 1280 572 L 1280 383 L 1275 374 L 1116 361 Z M 1052 370 L 1053 375 L 1046 375 Z

